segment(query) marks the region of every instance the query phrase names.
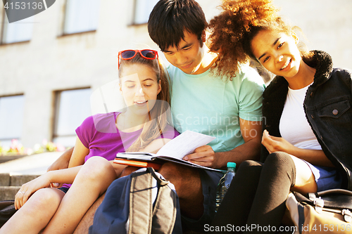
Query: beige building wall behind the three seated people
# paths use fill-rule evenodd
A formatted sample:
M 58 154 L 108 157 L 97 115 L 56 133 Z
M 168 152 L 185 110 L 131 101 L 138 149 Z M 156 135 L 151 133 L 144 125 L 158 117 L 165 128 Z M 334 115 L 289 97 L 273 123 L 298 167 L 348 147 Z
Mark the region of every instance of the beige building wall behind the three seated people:
M 32 40 L 0 46 L 0 96 L 25 93 L 26 147 L 50 139 L 53 91 L 99 86 L 116 78 L 116 55 L 125 48 L 158 49 L 146 25 L 131 25 L 133 1 L 101 0 L 96 32 L 60 37 L 64 0 L 34 16 Z M 207 19 L 220 0 L 199 0 Z M 332 54 L 335 65 L 352 67 L 352 1 L 275 0 L 282 13 L 303 29 L 311 48 Z M 2 3 L 0 4 L 3 8 Z

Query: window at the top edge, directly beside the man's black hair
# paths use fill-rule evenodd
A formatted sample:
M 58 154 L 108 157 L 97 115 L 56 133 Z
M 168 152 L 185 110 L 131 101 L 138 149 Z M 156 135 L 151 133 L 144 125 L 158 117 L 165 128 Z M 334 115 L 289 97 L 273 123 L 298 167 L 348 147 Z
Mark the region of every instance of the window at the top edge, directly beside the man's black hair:
M 135 0 L 134 1 L 134 24 L 140 25 L 148 22 L 149 15 L 158 0 Z

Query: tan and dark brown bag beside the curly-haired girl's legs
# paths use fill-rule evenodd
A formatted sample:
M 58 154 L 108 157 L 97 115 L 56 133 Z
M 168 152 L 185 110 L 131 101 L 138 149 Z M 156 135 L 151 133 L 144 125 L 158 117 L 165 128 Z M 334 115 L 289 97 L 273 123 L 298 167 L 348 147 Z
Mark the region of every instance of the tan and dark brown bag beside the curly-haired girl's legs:
M 296 233 L 350 233 L 352 192 L 343 189 L 318 193 L 290 193 L 286 200 Z

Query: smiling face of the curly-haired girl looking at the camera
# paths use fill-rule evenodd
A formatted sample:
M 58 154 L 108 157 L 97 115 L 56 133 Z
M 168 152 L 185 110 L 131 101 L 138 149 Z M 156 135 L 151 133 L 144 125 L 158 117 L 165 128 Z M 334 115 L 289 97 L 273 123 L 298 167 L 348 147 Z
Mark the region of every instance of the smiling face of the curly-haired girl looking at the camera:
M 284 32 L 262 30 L 253 37 L 251 50 L 263 67 L 270 72 L 291 78 L 298 74 L 303 63 L 296 45 L 298 39 Z

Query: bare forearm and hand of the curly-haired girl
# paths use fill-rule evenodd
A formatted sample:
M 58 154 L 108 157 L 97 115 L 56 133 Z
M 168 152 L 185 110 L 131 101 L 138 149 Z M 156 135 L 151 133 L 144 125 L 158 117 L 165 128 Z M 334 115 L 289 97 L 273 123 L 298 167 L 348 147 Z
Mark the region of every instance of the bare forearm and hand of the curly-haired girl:
M 298 148 L 282 137 L 270 136 L 268 131 L 264 130 L 262 143 L 271 152 L 287 152 L 290 155 L 306 160 L 317 166 L 334 167 L 332 162 L 327 158 L 322 150 L 306 150 Z

